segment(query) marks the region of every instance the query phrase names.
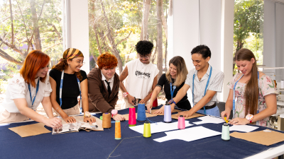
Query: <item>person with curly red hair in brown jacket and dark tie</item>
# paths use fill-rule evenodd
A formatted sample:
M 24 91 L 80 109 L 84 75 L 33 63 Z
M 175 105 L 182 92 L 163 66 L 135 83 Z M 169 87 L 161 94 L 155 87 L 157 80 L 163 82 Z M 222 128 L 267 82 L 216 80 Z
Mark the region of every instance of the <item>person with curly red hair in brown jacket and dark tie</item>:
M 117 64 L 116 57 L 109 52 L 99 55 L 99 68 L 92 69 L 88 74 L 89 111 L 109 112 L 114 120 L 122 121 L 124 117 L 114 110 L 119 100 L 119 75 L 115 72 Z

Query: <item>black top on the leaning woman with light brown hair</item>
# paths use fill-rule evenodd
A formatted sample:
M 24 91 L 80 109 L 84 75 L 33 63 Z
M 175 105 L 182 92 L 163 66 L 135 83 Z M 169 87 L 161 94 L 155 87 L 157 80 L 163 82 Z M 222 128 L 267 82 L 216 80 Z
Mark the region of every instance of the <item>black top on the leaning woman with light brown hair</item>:
M 175 79 L 172 78 L 172 81 L 174 83 Z M 178 90 L 180 90 L 180 88 L 182 88 L 184 84 L 185 82 L 183 82 L 180 86 L 175 88 L 175 91 L 173 92 L 173 98 L 175 98 L 175 95 L 177 95 Z M 167 78 L 165 77 L 165 73 L 163 73 L 163 75 L 160 76 L 160 79 L 156 86 L 160 86 L 160 88 L 164 88 L 165 98 L 167 98 L 168 101 L 172 99 L 170 96 L 170 81 L 168 81 Z M 172 85 L 172 90 L 173 90 L 173 85 Z M 183 102 L 184 100 L 187 100 L 187 94 L 185 94 L 185 97 L 183 97 L 182 100 L 180 100 L 180 102 Z

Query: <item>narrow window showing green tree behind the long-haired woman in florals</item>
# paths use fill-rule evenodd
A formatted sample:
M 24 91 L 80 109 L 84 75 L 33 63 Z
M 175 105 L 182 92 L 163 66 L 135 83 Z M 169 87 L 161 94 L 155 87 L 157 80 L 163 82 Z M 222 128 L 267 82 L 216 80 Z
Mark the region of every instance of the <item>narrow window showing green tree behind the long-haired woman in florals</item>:
M 250 49 L 258 65 L 263 64 L 263 1 L 235 0 L 234 54 L 241 48 Z M 234 74 L 237 72 L 233 65 Z

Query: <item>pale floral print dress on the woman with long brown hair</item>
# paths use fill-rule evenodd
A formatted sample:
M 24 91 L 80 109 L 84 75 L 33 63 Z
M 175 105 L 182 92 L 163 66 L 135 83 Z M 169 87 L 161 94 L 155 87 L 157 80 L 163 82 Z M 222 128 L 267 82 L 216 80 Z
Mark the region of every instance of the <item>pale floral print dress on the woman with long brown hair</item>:
M 240 77 L 241 77 L 241 73 L 237 73 L 233 77 L 233 79 L 227 84 L 227 86 L 231 90 L 233 90 L 234 84 Z M 246 110 L 245 110 L 246 98 L 244 97 L 245 90 L 246 90 L 246 83 L 238 82 L 236 84 L 236 88 L 235 88 L 236 112 L 234 114 L 234 117 L 245 118 L 245 113 L 246 113 Z M 266 109 L 266 100 L 264 99 L 264 97 L 269 94 L 278 95 L 278 92 L 276 91 L 274 82 L 271 80 L 271 78 L 264 74 L 263 76 L 259 78 L 259 99 L 258 99 L 258 111 L 259 112 Z M 270 127 L 269 117 L 259 120 L 258 125 Z

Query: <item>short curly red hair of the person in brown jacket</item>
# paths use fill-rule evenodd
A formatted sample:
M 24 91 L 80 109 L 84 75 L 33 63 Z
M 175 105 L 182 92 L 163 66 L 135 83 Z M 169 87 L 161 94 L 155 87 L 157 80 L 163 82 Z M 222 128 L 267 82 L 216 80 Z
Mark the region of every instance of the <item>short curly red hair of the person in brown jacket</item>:
M 97 60 L 97 65 L 99 69 L 106 67 L 107 69 L 111 69 L 117 66 L 119 62 L 117 61 L 114 55 L 109 54 L 109 52 L 104 52 L 103 54 L 99 55 Z

